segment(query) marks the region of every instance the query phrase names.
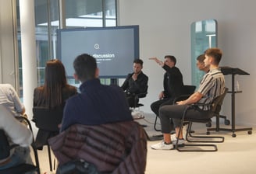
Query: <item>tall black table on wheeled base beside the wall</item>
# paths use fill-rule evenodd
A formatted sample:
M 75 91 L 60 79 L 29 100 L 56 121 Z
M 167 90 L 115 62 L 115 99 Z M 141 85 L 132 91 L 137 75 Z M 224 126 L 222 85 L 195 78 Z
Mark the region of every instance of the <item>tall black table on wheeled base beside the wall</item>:
M 208 131 L 232 131 L 232 137 L 236 137 L 235 132 L 236 131 L 247 131 L 248 134 L 252 133 L 252 127 L 244 127 L 244 128 L 236 128 L 236 110 L 235 110 L 235 94 L 241 93 L 242 91 L 236 91 L 235 89 L 235 75 L 250 75 L 246 71 L 241 70 L 240 68 L 231 68 L 231 67 L 220 67 L 223 75 L 231 75 L 232 76 L 232 86 L 231 91 L 228 93 L 231 93 L 231 129 L 230 128 L 221 128 L 219 125 L 216 125 L 216 128 L 208 128 Z M 216 118 L 216 119 L 219 119 Z M 219 124 L 219 120 L 216 121 L 216 124 Z

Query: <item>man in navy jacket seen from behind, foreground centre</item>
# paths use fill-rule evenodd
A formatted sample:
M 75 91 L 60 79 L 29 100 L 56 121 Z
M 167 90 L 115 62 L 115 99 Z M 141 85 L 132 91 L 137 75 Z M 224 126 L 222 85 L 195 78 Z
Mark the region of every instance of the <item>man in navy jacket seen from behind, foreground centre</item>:
M 80 94 L 67 100 L 61 131 L 73 124 L 99 125 L 133 120 L 123 89 L 101 85 L 94 57 L 81 54 L 73 62 L 74 77 L 80 80 Z

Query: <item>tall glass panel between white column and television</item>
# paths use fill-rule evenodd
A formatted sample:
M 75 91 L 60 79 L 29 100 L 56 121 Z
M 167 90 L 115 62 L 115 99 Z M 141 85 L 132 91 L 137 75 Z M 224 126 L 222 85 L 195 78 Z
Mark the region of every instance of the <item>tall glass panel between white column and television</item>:
M 56 57 L 56 30 L 52 25 L 59 20 L 58 0 L 35 0 L 36 47 L 37 47 L 37 85 L 44 84 L 44 67 L 46 61 Z

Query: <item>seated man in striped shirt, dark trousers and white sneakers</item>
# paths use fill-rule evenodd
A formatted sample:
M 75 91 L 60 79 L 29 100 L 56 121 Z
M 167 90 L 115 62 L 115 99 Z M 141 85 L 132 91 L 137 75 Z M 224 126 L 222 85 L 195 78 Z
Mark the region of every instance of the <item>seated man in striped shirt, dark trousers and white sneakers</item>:
M 219 61 L 222 58 L 222 50 L 219 50 L 219 48 L 209 48 L 208 50 L 205 50 L 204 56 L 204 65 L 209 68 L 209 71 L 201 80 L 197 92 L 194 92 L 194 94 L 192 94 L 188 99 L 177 102 L 176 105 L 165 105 L 160 108 L 159 117 L 161 120 L 164 140 L 158 144 L 151 145 L 152 149 L 170 150 L 173 148 L 173 144 L 176 144 L 176 141 L 172 140 L 169 132 L 171 127 L 169 123 L 170 118 L 172 120 L 181 120 L 183 110 L 187 107 L 187 105 L 193 103 L 212 103 L 213 99 L 224 93 L 225 78 L 222 71 L 219 69 Z M 187 117 L 198 119 L 208 118 L 209 110 L 209 106 L 193 107 L 190 110 L 187 110 Z M 175 129 L 177 137 L 180 131 L 180 125 L 177 125 Z M 180 134 L 180 137 L 178 138 L 183 141 L 183 134 Z

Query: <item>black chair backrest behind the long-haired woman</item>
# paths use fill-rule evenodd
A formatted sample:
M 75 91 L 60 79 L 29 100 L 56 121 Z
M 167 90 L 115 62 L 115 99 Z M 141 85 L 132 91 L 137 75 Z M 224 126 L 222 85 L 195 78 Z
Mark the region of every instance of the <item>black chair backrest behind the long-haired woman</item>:
M 59 131 L 59 124 L 62 123 L 63 109 L 48 109 L 36 106 L 33 108 L 33 121 L 39 129 L 45 131 Z

